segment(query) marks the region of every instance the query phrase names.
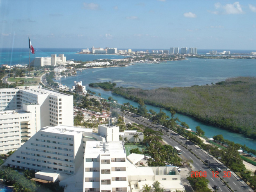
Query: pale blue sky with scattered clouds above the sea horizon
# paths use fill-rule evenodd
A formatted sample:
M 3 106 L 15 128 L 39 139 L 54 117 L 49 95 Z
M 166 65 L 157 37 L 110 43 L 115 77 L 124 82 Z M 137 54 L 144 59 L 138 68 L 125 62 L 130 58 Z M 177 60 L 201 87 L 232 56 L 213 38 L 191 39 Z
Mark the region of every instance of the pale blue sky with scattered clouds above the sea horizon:
M 0 0 L 0 47 L 255 50 L 255 0 Z

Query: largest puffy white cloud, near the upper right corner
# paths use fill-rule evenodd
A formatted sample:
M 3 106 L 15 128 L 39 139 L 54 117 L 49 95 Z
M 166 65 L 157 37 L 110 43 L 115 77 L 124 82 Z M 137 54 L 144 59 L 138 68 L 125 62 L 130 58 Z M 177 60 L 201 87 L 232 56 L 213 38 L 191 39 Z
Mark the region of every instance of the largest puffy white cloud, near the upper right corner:
M 212 14 L 242 14 L 244 13 L 239 2 L 234 2 L 233 4 L 221 5 L 219 2 L 214 4 L 216 9 L 221 11 L 209 11 Z

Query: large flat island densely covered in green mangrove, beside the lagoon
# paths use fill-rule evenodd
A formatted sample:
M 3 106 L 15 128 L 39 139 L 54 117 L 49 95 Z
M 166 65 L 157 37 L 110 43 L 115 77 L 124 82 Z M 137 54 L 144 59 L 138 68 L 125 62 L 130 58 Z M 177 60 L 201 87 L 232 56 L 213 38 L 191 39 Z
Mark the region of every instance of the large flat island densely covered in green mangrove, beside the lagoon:
M 228 78 L 211 85 L 155 90 L 117 87 L 112 92 L 256 138 L 255 77 Z

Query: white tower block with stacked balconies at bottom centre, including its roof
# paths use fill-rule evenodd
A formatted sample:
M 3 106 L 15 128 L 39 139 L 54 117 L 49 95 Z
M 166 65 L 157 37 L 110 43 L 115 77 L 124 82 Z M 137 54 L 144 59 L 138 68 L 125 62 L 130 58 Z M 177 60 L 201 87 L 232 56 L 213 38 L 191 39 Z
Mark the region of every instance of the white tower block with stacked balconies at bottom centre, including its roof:
M 121 141 L 87 142 L 83 170 L 83 192 L 128 192 L 126 151 Z

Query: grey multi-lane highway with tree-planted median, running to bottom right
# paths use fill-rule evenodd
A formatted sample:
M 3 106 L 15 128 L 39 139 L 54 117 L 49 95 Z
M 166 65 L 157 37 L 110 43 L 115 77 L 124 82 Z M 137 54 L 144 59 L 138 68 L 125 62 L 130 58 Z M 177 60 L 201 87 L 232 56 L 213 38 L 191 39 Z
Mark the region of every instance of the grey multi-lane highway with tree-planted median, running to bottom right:
M 119 110 L 119 112 L 121 113 L 120 110 Z M 122 113 L 122 115 L 123 115 L 123 113 Z M 135 116 L 134 114 L 132 114 L 130 112 L 125 113 L 124 116 L 125 116 L 125 119 L 127 122 L 131 121 L 131 122 L 134 122 L 137 124 L 142 124 L 146 127 L 152 128 L 154 130 L 161 130 L 163 128 L 164 131 L 162 131 L 162 132 L 164 133 L 164 135 L 161 136 L 163 138 L 163 140 L 168 145 L 171 145 L 173 147 L 178 146 L 182 150 L 182 154 L 180 155 L 180 157 L 182 159 L 184 159 L 184 158 L 188 159 L 188 160 L 191 159 L 193 161 L 192 165 L 194 166 L 194 171 L 200 171 L 200 169 L 201 169 L 202 172 L 206 172 L 206 178 L 209 180 L 209 185 L 214 190 L 215 190 L 214 185 L 218 185 L 219 191 L 230 192 L 228 187 L 226 185 L 224 185 L 224 183 L 220 180 L 220 178 L 216 178 L 215 174 L 213 174 L 212 171 L 210 170 L 210 168 L 208 168 L 208 166 L 206 166 L 202 161 L 209 160 L 210 161 L 209 166 L 211 168 L 213 168 L 214 170 L 217 167 L 220 168 L 222 170 L 222 172 L 220 172 L 218 176 L 223 178 L 224 181 L 226 183 L 228 183 L 228 185 L 232 188 L 233 191 L 253 192 L 253 190 L 247 184 L 245 184 L 240 178 L 237 177 L 237 175 L 235 175 L 232 171 L 230 171 L 230 169 L 228 169 L 226 166 L 224 166 L 220 161 L 218 161 L 213 156 L 211 156 L 210 154 L 205 152 L 203 149 L 201 149 L 197 145 L 194 145 L 192 142 L 188 141 L 184 137 L 178 135 L 177 133 L 175 133 L 171 130 L 167 132 L 166 131 L 166 130 L 168 130 L 167 128 L 164 128 L 163 126 L 158 125 L 158 124 L 154 125 L 149 119 L 146 119 L 144 117 L 137 116 L 137 115 Z M 178 142 L 180 142 L 182 144 L 187 144 L 188 149 L 192 149 L 192 152 L 194 152 L 194 154 L 196 154 L 201 160 L 198 159 L 196 156 L 194 156 L 190 151 L 188 151 L 182 145 L 178 144 Z M 228 176 L 225 177 L 225 175 L 227 175 L 227 174 L 228 174 Z

